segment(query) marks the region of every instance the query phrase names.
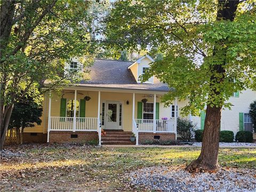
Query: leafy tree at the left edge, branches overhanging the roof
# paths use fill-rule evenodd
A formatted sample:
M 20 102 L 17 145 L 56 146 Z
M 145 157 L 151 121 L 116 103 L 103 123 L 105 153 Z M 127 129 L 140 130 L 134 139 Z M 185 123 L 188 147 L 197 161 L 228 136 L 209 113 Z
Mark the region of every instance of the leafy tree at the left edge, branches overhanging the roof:
M 38 99 L 47 89 L 70 85 L 83 73 L 66 70 L 77 57 L 83 65 L 92 61 L 89 1 L 1 1 L 1 145 L 14 103 L 25 95 Z

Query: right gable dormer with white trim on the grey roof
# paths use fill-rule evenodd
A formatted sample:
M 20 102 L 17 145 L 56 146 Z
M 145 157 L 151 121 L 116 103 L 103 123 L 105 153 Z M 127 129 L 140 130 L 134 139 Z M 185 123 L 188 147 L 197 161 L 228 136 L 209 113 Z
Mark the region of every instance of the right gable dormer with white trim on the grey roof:
M 145 71 L 150 67 L 149 63 L 153 61 L 154 59 L 152 59 L 149 55 L 144 55 L 128 67 L 128 69 L 132 71 L 132 74 L 135 77 L 137 83 L 141 83 L 139 81 L 139 77 L 145 73 Z M 150 77 L 148 81 L 144 83 L 153 84 L 154 77 Z

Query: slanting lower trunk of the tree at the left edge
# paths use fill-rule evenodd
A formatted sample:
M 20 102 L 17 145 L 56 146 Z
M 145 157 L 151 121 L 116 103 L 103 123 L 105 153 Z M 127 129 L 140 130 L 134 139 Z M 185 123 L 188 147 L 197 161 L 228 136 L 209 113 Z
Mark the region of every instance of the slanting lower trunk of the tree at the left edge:
M 7 105 L 4 108 L 3 111 L 1 110 L 1 113 L 3 112 L 3 115 L 1 114 L 3 119 L 2 119 L 2 124 L 1 124 L 1 127 L 0 127 L 0 131 L 1 131 L 1 133 L 0 133 L 1 134 L 0 150 L 3 150 L 3 147 L 4 147 L 6 131 L 8 129 L 10 118 L 11 118 L 11 115 L 12 115 L 12 109 L 13 109 L 13 104 L 12 105 Z

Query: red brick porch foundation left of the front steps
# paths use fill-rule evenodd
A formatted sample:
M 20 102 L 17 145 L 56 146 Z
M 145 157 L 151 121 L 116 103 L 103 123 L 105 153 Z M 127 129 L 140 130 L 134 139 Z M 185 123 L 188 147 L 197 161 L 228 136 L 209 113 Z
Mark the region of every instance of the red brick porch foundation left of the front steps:
M 71 138 L 71 135 L 77 135 L 77 138 Z M 86 142 L 98 139 L 98 132 L 94 131 L 50 131 L 49 142 Z

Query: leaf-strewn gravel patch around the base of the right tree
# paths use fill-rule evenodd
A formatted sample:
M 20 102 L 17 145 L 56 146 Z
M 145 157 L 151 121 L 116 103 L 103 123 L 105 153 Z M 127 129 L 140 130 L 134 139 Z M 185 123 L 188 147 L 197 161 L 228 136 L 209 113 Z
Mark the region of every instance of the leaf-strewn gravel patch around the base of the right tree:
M 256 170 L 221 169 L 189 173 L 181 167 L 154 166 L 128 175 L 134 188 L 156 191 L 256 191 Z

